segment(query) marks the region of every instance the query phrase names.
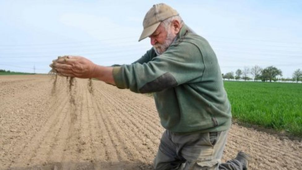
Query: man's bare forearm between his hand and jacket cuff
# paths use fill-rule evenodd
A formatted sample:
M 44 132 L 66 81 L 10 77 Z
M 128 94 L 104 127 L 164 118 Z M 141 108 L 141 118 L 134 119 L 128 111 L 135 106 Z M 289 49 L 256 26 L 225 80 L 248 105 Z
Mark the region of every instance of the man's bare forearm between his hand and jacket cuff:
M 93 78 L 97 78 L 106 83 L 115 85 L 112 70 L 113 67 L 104 67 L 104 66 L 95 65 Z

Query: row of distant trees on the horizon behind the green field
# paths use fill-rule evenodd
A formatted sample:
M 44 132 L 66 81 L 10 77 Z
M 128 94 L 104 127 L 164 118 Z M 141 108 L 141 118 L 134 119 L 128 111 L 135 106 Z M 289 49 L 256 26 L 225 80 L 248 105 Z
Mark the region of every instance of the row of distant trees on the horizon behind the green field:
M 252 76 L 252 77 L 250 77 Z M 235 80 L 254 80 L 254 81 L 302 81 L 302 70 L 297 69 L 293 72 L 292 78 L 277 78 L 277 76 L 282 76 L 282 71 L 274 66 L 269 66 L 266 68 L 261 68 L 257 65 L 252 68 L 244 67 L 243 69 L 237 69 L 234 72 L 227 72 L 222 74 L 223 80 L 235 79 Z

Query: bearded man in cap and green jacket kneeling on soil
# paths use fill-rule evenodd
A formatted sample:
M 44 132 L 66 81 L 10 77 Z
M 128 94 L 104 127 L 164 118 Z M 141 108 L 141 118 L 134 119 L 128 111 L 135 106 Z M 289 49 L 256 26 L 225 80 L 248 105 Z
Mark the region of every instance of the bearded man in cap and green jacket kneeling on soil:
M 63 76 L 97 78 L 136 93 L 154 92 L 163 133 L 155 169 L 247 169 L 239 152 L 220 163 L 231 126 L 231 106 L 216 55 L 173 8 L 154 5 L 145 15 L 140 40 L 153 46 L 136 62 L 103 67 L 79 56 L 53 61 Z

